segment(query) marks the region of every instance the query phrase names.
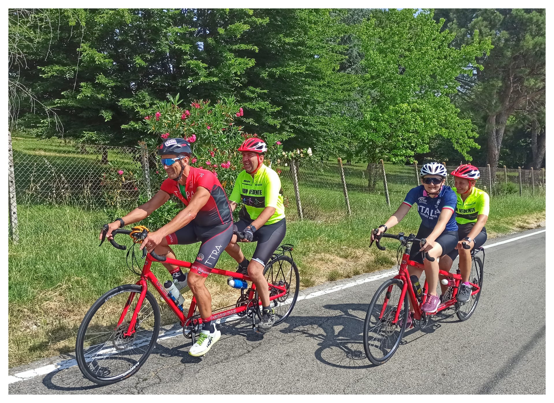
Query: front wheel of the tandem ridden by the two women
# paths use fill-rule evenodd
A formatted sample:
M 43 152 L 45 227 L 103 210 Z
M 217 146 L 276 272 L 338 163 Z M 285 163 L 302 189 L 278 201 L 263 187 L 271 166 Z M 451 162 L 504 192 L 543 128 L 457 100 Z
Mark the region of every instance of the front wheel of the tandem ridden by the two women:
M 408 293 L 404 295 L 403 303 L 400 300 L 403 284 L 399 279 L 383 282 L 367 308 L 363 324 L 363 348 L 367 358 L 375 365 L 384 364 L 392 357 L 404 335 L 409 306 Z M 392 323 L 398 308 L 398 322 L 402 320 L 402 326 Z

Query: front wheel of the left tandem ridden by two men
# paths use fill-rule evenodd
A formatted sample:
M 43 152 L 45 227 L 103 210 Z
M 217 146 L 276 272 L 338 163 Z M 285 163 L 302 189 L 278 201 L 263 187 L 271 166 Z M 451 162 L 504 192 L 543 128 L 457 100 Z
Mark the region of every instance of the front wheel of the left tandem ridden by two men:
M 109 385 L 133 375 L 146 362 L 160 332 L 160 307 L 146 292 L 135 325 L 135 333 L 125 337 L 135 311 L 141 286 L 127 284 L 102 295 L 81 322 L 75 355 L 79 369 L 89 380 Z M 117 323 L 130 301 L 123 322 Z

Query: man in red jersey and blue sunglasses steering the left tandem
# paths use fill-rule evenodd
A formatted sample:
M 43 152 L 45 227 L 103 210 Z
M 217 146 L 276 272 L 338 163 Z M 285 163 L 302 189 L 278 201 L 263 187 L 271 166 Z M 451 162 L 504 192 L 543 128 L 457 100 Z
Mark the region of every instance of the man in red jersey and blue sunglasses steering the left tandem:
M 158 149 L 168 178 L 160 191 L 143 205 L 109 224 L 106 236 L 111 232 L 148 217 L 167 202 L 171 195 L 177 196 L 186 206 L 175 218 L 157 231 L 148 234 L 141 249 L 176 259 L 169 245 L 184 245 L 202 242 L 196 260 L 185 276 L 178 266 L 163 264 L 170 271 L 179 289 L 189 286 L 196 297 L 202 318 L 202 331 L 189 354 L 200 357 L 221 337 L 221 332 L 212 322 L 212 296 L 206 288 L 206 278 L 216 265 L 219 255 L 233 236 L 233 216 L 227 195 L 216 175 L 205 169 L 189 165 L 191 146 L 181 138 L 167 139 Z

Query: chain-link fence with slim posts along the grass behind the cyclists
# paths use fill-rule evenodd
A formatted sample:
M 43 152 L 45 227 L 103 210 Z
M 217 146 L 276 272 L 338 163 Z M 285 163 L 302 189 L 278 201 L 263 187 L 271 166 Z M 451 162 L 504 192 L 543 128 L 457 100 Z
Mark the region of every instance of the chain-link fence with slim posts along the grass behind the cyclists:
M 17 204 L 132 208 L 147 200 L 165 179 L 154 150 L 145 144 L 114 147 L 13 138 L 10 149 L 9 210 L 17 242 Z M 13 164 L 12 164 L 13 160 Z M 273 166 L 280 172 L 289 219 L 336 221 L 398 206 L 420 184 L 420 165 L 338 160 Z M 294 164 L 294 165 L 293 165 Z M 446 166 L 448 172 L 456 166 Z M 479 168 L 479 188 L 491 197 L 545 195 L 545 170 Z M 448 177 L 454 185 L 454 177 Z M 13 201 L 13 202 L 12 202 Z

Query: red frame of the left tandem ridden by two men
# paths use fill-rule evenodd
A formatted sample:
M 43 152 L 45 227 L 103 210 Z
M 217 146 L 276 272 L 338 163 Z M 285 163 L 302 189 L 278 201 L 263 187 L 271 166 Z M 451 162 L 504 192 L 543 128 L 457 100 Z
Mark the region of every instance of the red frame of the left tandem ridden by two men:
M 194 310 L 196 309 L 196 305 L 197 305 L 196 297 L 193 297 L 192 301 L 191 301 L 191 305 L 188 309 L 187 316 L 184 316 L 184 308 L 183 308 L 183 311 L 181 311 L 179 309 L 179 307 L 176 305 L 176 303 L 173 302 L 173 300 L 170 298 L 170 296 L 168 296 L 168 292 L 163 287 L 160 280 L 158 280 L 156 278 L 156 276 L 150 270 L 150 268 L 152 266 L 152 262 L 155 262 L 155 261 L 158 261 L 158 260 L 154 259 L 150 255 L 150 253 L 148 253 L 146 255 L 146 260 L 145 260 L 144 266 L 142 267 L 142 273 L 141 273 L 141 276 L 140 276 L 140 280 L 136 282 L 137 285 L 141 286 L 141 293 L 140 293 L 140 296 L 139 296 L 139 301 L 137 302 L 137 305 L 135 307 L 135 311 L 133 312 L 133 315 L 131 317 L 129 327 L 127 328 L 127 331 L 124 333 L 124 337 L 130 337 L 130 336 L 132 336 L 133 333 L 135 333 L 136 320 L 137 320 L 137 316 L 139 315 L 139 311 L 140 311 L 140 308 L 142 306 L 142 302 L 144 301 L 144 299 L 146 297 L 146 291 L 148 290 L 148 281 L 150 281 L 152 283 L 152 285 L 158 291 L 158 294 L 160 294 L 162 299 L 167 303 L 167 305 L 170 306 L 173 313 L 175 313 L 175 315 L 179 318 L 179 323 L 181 323 L 181 326 L 184 326 L 186 321 L 193 316 Z M 191 267 L 191 263 L 189 263 L 188 261 L 171 259 L 171 258 L 167 258 L 166 261 L 164 261 L 163 263 L 173 264 L 173 265 L 184 267 L 184 268 L 190 268 Z M 254 291 L 255 291 L 256 286 L 255 286 L 254 282 L 247 275 L 236 273 L 235 271 L 227 271 L 227 270 L 221 270 L 221 269 L 216 269 L 216 268 L 212 269 L 211 274 L 219 274 L 219 275 L 223 275 L 223 276 L 233 277 L 233 278 L 236 278 L 236 279 L 242 279 L 242 280 L 245 280 L 245 281 L 251 281 L 252 282 L 252 287 L 250 288 L 250 291 L 249 291 L 249 300 L 252 300 L 254 298 Z M 278 294 L 270 296 L 270 298 L 269 298 L 270 301 L 273 301 L 276 298 L 280 298 L 280 297 L 282 297 L 283 295 L 286 294 L 285 287 L 277 286 L 277 285 L 273 285 L 273 284 L 268 284 L 268 285 L 269 285 L 270 290 L 271 289 L 280 290 L 280 292 Z M 117 322 L 117 327 L 121 326 L 121 324 L 123 323 L 125 315 L 129 311 L 129 307 L 131 306 L 131 303 L 132 303 L 134 297 L 135 297 L 135 293 L 131 294 L 129 296 L 129 298 L 127 299 L 127 302 L 125 304 L 123 312 L 121 313 L 119 321 Z M 259 301 L 258 304 L 261 304 L 261 301 Z M 216 320 L 216 319 L 219 319 L 219 318 L 224 318 L 224 317 L 227 317 L 227 316 L 235 315 L 236 313 L 243 312 L 243 311 L 247 310 L 247 308 L 248 308 L 247 305 L 248 304 L 245 304 L 243 306 L 234 307 L 232 309 L 219 312 L 216 315 L 212 315 L 212 320 Z M 198 323 L 202 323 L 202 318 L 198 319 Z

